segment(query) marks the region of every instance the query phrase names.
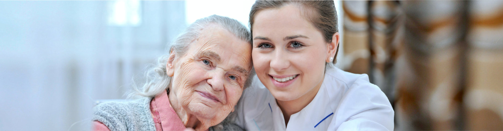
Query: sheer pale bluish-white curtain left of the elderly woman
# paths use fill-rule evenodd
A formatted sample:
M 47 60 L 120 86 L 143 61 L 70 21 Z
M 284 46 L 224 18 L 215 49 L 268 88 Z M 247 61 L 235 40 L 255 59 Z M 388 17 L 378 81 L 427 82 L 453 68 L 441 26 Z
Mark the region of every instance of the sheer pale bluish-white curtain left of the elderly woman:
M 0 1 L 0 130 L 91 129 L 186 26 L 183 1 Z

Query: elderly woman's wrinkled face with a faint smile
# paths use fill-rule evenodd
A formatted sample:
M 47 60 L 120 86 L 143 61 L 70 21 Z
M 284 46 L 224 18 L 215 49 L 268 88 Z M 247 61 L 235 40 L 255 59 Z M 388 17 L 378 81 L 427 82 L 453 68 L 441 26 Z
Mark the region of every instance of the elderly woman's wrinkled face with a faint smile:
M 175 56 L 171 89 L 187 113 L 216 125 L 234 110 L 251 67 L 251 45 L 210 24 Z

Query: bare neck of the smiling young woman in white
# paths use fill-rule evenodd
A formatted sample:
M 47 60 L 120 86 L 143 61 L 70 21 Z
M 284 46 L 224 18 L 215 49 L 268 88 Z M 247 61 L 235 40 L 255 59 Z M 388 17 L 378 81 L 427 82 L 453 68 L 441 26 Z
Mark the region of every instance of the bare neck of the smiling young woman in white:
M 311 101 L 318 93 L 321 84 L 323 83 L 323 78 L 313 89 L 311 89 L 306 94 L 302 95 L 297 99 L 290 101 L 280 101 L 276 99 L 276 103 L 278 103 L 281 112 L 283 112 L 283 117 L 285 118 L 285 125 L 288 124 L 288 121 L 290 120 L 290 115 L 299 112 L 300 110 L 304 109 L 304 107 L 306 107 L 309 103 L 311 103 Z

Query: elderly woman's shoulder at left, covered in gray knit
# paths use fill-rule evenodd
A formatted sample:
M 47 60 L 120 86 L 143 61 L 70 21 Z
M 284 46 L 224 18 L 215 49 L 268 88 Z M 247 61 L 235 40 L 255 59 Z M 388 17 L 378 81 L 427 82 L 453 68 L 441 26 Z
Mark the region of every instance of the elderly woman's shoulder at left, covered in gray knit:
M 141 129 L 135 120 L 148 119 L 151 98 L 127 100 L 123 102 L 104 102 L 94 107 L 94 121 L 100 121 L 110 130 Z M 143 118 L 145 117 L 145 118 Z M 151 120 L 153 123 L 153 120 Z

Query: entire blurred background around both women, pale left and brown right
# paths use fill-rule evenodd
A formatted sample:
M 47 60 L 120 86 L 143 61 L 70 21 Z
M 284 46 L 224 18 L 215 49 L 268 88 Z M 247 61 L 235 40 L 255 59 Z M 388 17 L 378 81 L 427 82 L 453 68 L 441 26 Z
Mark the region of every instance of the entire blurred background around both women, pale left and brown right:
M 0 1 L 0 130 L 89 130 L 190 23 L 254 1 Z M 503 1 L 335 1 L 336 67 L 368 74 L 395 130 L 503 130 Z

